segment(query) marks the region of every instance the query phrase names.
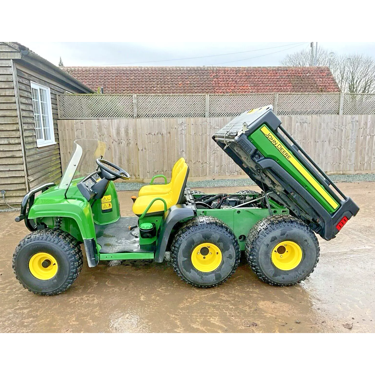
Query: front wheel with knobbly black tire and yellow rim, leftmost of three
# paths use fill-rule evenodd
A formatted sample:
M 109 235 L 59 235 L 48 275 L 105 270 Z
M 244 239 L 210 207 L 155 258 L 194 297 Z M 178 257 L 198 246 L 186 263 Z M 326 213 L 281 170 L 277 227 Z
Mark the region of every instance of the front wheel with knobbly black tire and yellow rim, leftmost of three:
M 40 296 L 70 288 L 83 266 L 78 241 L 61 230 L 42 229 L 28 234 L 13 253 L 13 272 L 24 288 Z

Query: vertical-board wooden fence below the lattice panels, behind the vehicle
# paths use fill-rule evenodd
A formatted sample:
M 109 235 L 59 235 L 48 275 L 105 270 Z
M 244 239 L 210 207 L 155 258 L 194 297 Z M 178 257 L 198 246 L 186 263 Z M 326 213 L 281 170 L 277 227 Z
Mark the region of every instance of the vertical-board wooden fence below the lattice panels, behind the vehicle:
M 73 141 L 106 142 L 105 158 L 132 178 L 170 177 L 181 156 L 190 177 L 243 174 L 211 139 L 233 117 L 58 120 L 62 168 Z M 375 115 L 279 116 L 283 126 L 326 172 L 375 171 Z

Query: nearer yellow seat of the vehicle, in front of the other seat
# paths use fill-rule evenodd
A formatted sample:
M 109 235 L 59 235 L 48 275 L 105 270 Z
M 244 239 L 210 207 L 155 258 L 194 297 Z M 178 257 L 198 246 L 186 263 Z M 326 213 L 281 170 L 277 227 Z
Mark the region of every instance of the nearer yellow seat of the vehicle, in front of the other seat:
M 139 196 L 133 204 L 133 212 L 137 216 L 141 216 L 146 210 L 147 206 L 151 203 L 154 198 L 162 198 L 166 202 L 167 210 L 173 205 L 181 203 L 184 196 L 184 189 L 186 186 L 187 175 L 189 174 L 189 167 L 185 162 L 180 164 L 179 171 L 176 173 L 173 181 L 172 189 L 167 194 L 157 195 L 142 195 Z M 177 169 L 176 169 L 177 171 Z M 164 213 L 163 201 L 157 200 L 153 202 L 147 214 L 162 214 Z

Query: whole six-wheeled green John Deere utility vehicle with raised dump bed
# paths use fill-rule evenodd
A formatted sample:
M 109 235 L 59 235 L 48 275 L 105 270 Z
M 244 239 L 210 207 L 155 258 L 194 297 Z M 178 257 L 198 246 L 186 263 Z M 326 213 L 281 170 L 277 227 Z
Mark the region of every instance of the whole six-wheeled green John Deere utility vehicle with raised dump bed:
M 313 241 L 311 246 L 316 248 L 316 253 L 314 253 L 316 266 L 319 247 L 318 242 L 313 239 L 315 235 L 312 231 L 320 234 L 326 240 L 334 238 L 342 226 L 357 214 L 359 207 L 335 186 L 287 133 L 281 126 L 281 121 L 273 113 L 272 106 L 246 111 L 230 121 L 212 138 L 263 192 L 246 190 L 235 194 L 206 194 L 191 191 L 186 187 L 189 168 L 185 166 L 187 170 L 183 182 L 179 185 L 173 183 L 169 195 L 165 193 L 150 195 L 149 201 L 143 199 L 144 196 L 139 196 L 137 199 L 134 197 L 132 198 L 134 202 L 133 212 L 136 213 L 136 216 L 121 217 L 113 181 L 117 178 L 127 180 L 130 178 L 129 174 L 113 163 L 102 159 L 105 153 L 103 142 L 80 139 L 74 142 L 71 159 L 60 183 L 58 185 L 48 183 L 30 190 L 23 199 L 21 214 L 15 220 L 17 222 L 24 220 L 31 232 L 40 233 L 40 238 L 43 241 L 49 238 L 48 236 L 55 236 L 51 237 L 51 241 L 56 240 L 58 243 L 60 241 L 57 239 L 58 236 L 61 238 L 63 234 L 64 236 L 65 234 L 71 236 L 69 238 L 72 240 L 65 240 L 65 243 L 66 241 L 75 241 L 76 248 L 73 251 L 75 254 L 79 252 L 77 244 L 83 243 L 89 267 L 95 267 L 100 261 L 108 260 L 148 259 L 160 263 L 164 259 L 165 252 L 171 251 L 174 254 L 175 271 L 180 276 L 181 273 L 183 274 L 181 276 L 183 280 L 195 286 L 209 287 L 224 282 L 233 274 L 239 263 L 237 251 L 243 250 L 246 250 L 249 264 L 257 275 L 269 284 L 273 284 L 272 276 L 265 276 L 264 278 L 260 276 L 258 264 L 254 263 L 255 253 L 253 254 L 251 251 L 254 250 L 254 246 L 258 246 L 256 245 L 257 241 L 260 243 L 256 239 L 257 233 L 261 233 L 267 227 L 266 224 L 271 222 L 275 223 L 275 226 L 272 227 L 275 229 L 281 223 L 279 218 L 285 216 L 289 219 L 282 221 L 282 225 L 288 227 L 293 224 L 296 228 L 300 227 L 299 230 L 301 231 L 311 231 L 310 237 L 304 241 Z M 175 164 L 176 168 L 177 165 L 179 165 L 178 162 Z M 111 168 L 108 168 L 108 166 Z M 178 168 L 176 170 L 180 171 Z M 174 179 L 173 173 L 172 171 L 172 180 Z M 164 188 L 166 189 L 166 177 L 162 175 L 156 177 L 164 178 Z M 170 184 L 172 184 L 172 181 Z M 151 187 L 154 188 L 154 186 Z M 178 196 L 178 199 L 176 198 L 173 203 L 171 203 L 171 194 L 172 196 Z M 139 195 L 141 195 L 141 190 Z M 143 212 L 134 210 L 138 199 L 143 199 L 148 203 L 141 205 L 141 207 L 145 207 L 142 208 Z M 157 203 L 159 204 L 158 207 L 163 207 L 162 211 L 155 211 L 153 208 Z M 275 220 L 272 217 L 275 217 Z M 271 221 L 267 221 L 269 218 L 271 218 Z M 290 218 L 294 221 L 291 221 Z M 305 225 L 304 228 L 306 229 L 303 229 L 301 225 Z M 221 236 L 220 241 L 222 241 L 216 243 L 217 246 L 221 243 L 220 246 L 228 248 L 229 245 L 225 245 L 228 238 L 231 238 L 230 241 L 233 243 L 233 246 L 229 246 L 231 247 L 231 255 L 228 256 L 228 259 L 235 258 L 234 263 L 231 264 L 232 269 L 223 271 L 220 276 L 221 279 L 217 279 L 217 282 L 214 277 L 217 278 L 221 271 L 213 270 L 211 273 L 207 271 L 206 275 L 207 267 L 204 264 L 200 266 L 203 259 L 206 259 L 206 256 L 202 257 L 203 251 L 206 251 L 206 248 L 210 248 L 210 246 L 212 249 L 216 249 L 214 243 L 216 240 L 214 239 L 211 241 L 212 243 L 206 241 L 210 246 L 203 240 L 203 248 L 194 245 L 195 250 L 189 251 L 190 253 L 196 251 L 198 258 L 193 259 L 194 254 L 192 253 L 192 263 L 189 263 L 188 269 L 185 270 L 186 273 L 183 270 L 181 271 L 184 267 L 183 262 L 186 263 L 190 255 L 184 255 L 185 258 L 178 258 L 180 257 L 178 247 L 184 248 L 184 239 L 190 235 L 193 236 L 194 231 L 198 230 L 197 228 L 202 231 L 203 237 L 207 235 L 207 231 L 216 231 L 215 233 L 217 233 L 217 236 Z M 297 240 L 300 238 L 298 236 L 296 237 Z M 20 276 L 20 272 L 17 274 L 16 270 L 17 267 L 18 269 L 22 268 L 19 254 L 25 246 L 28 246 L 28 241 L 37 242 L 38 238 L 25 237 L 13 255 L 13 269 L 20 279 L 23 276 Z M 255 245 L 250 241 L 251 239 Z M 314 241 L 316 241 L 316 244 Z M 270 246 L 270 244 L 267 246 Z M 298 244 L 285 243 L 284 245 L 291 246 L 290 251 L 296 254 L 297 258 L 293 260 L 296 265 L 299 264 L 298 261 L 302 262 L 302 256 L 306 257 L 306 255 L 302 255 L 303 252 Z M 283 252 L 286 251 L 284 245 L 282 246 Z M 192 243 L 189 246 L 193 246 Z M 213 269 L 221 264 L 217 266 L 217 270 L 221 270 L 220 267 L 225 268 L 224 256 L 225 251 L 227 251 L 225 249 L 219 250 L 219 248 L 216 251 L 219 258 L 211 262 Z M 44 292 L 42 280 L 45 279 L 43 279 L 43 276 L 40 276 L 39 279 L 38 275 L 57 273 L 57 268 L 53 269 L 52 267 L 55 265 L 53 263 L 55 258 L 51 256 L 50 259 L 47 259 L 48 252 L 37 253 L 42 255 L 33 255 L 34 253 L 29 248 L 26 250 L 28 252 L 26 251 L 25 254 L 30 254 L 27 257 L 30 258 L 31 255 L 32 257 L 28 260 L 28 268 L 23 268 L 22 272 L 31 272 L 32 268 L 33 272 L 31 273 L 33 276 L 37 275 L 39 284 L 29 287 L 30 281 L 28 280 L 31 279 L 28 275 L 21 280 L 25 287 L 34 291 L 34 293 L 45 293 L 46 295 L 58 294 L 67 288 L 66 285 L 68 284 L 62 283 L 61 289 L 56 289 L 57 291 L 48 289 Z M 215 253 L 209 251 L 207 250 L 207 254 L 210 256 L 213 254 L 212 257 L 214 257 Z M 282 254 L 284 253 L 280 253 L 280 259 L 281 262 L 284 262 Z M 274 257 L 274 255 L 272 256 Z M 202 259 L 199 257 L 202 257 Z M 209 256 L 207 255 L 207 257 Z M 311 258 L 312 263 L 310 262 L 309 267 L 312 268 L 306 272 L 306 275 L 314 269 L 314 259 Z M 278 261 L 275 260 L 274 262 Z M 21 265 L 17 266 L 17 262 Z M 44 269 L 40 264 L 38 266 L 37 262 L 42 262 L 40 264 L 43 264 L 43 267 L 47 271 L 49 270 L 49 273 L 46 271 L 47 273 L 43 274 Z M 78 261 L 78 263 L 80 262 Z M 194 267 L 198 265 L 196 266 L 198 268 L 194 269 L 192 265 Z M 280 263 L 279 267 L 281 267 L 280 270 L 286 269 L 283 263 Z M 297 266 L 297 268 L 293 267 L 298 268 Z M 74 272 L 72 275 L 76 276 L 73 277 L 73 280 L 77 278 L 80 269 L 76 269 Z M 215 275 L 215 272 L 217 275 L 212 276 L 212 280 L 209 279 L 211 274 Z M 196 275 L 189 278 L 190 273 Z M 299 272 L 297 274 L 300 275 Z M 298 275 L 291 276 L 290 281 L 288 281 L 289 284 L 285 285 L 293 285 L 295 282 L 302 280 L 302 276 L 298 279 Z M 307 277 L 306 275 L 303 277 Z M 269 278 L 267 279 L 267 277 Z M 281 281 L 276 280 L 276 284 L 273 285 L 284 285 L 282 280 L 284 276 L 281 275 L 280 277 Z M 201 283 L 199 280 L 204 278 L 207 278 L 207 282 Z M 68 280 L 68 276 L 66 280 Z M 51 285 L 48 288 L 51 289 Z

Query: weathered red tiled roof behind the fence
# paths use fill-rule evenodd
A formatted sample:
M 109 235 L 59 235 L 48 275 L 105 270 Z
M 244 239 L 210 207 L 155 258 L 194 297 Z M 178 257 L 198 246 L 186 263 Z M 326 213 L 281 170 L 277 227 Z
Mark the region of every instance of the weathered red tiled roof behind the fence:
M 106 94 L 339 92 L 328 67 L 92 67 L 62 68 Z

